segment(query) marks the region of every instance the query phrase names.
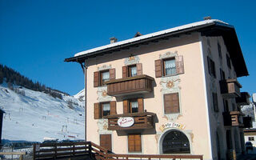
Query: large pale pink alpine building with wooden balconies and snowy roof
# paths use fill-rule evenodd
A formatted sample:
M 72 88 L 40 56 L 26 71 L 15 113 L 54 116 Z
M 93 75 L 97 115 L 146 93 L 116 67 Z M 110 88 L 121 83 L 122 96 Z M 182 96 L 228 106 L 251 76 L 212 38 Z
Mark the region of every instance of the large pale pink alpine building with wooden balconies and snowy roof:
M 86 78 L 86 139 L 116 154 L 242 154 L 234 26 L 207 19 L 75 54 Z M 240 98 L 242 102 L 236 102 Z M 239 100 L 238 100 L 239 101 Z

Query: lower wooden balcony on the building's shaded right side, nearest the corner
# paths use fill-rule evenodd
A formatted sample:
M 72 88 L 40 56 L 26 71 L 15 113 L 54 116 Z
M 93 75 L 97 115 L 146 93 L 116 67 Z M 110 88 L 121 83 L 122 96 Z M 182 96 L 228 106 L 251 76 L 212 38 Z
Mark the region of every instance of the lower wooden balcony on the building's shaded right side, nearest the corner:
M 223 112 L 224 126 L 243 126 L 241 112 Z

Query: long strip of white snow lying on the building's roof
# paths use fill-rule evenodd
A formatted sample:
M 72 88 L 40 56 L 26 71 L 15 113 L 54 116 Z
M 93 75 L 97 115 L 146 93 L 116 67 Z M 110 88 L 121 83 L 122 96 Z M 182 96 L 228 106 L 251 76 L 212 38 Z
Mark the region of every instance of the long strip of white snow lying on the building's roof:
M 159 35 L 162 35 L 162 34 L 170 34 L 171 32 L 178 31 L 178 30 L 185 30 L 185 29 L 193 28 L 195 26 L 203 26 L 203 25 L 212 24 L 212 23 L 218 23 L 219 25 L 233 28 L 233 26 L 229 25 L 226 22 L 222 22 L 218 19 L 208 19 L 208 20 L 205 20 L 205 21 L 193 22 L 193 23 L 186 24 L 186 25 L 183 25 L 183 26 L 177 26 L 177 27 L 170 28 L 170 29 L 167 29 L 167 30 L 154 32 L 152 34 L 145 34 L 145 35 L 139 36 L 137 38 L 130 38 L 130 39 L 127 39 L 127 40 L 121 41 L 121 42 L 114 42 L 114 43 L 111 43 L 111 44 L 105 45 L 105 46 L 99 46 L 97 48 L 93 48 L 93 49 L 90 49 L 90 50 L 85 50 L 85 51 L 79 52 L 78 54 L 74 54 L 74 57 L 77 57 L 77 56 L 83 55 L 83 54 L 90 54 L 90 53 L 96 52 L 98 50 L 106 50 L 106 49 L 114 47 L 114 46 L 121 46 L 121 45 L 128 44 L 128 43 L 131 43 L 131 42 L 138 42 L 142 39 L 152 38 L 152 37 L 156 37 L 156 36 L 159 36 Z

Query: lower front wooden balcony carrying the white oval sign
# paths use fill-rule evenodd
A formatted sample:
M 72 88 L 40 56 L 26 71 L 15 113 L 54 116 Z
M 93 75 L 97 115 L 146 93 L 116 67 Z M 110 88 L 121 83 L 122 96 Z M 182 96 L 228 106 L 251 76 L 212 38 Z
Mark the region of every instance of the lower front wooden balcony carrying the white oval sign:
M 142 112 L 132 114 L 116 114 L 108 115 L 104 118 L 108 119 L 107 130 L 144 130 L 154 128 L 154 113 Z M 129 127 L 122 127 L 118 125 L 119 118 L 130 117 L 134 118 L 134 124 Z

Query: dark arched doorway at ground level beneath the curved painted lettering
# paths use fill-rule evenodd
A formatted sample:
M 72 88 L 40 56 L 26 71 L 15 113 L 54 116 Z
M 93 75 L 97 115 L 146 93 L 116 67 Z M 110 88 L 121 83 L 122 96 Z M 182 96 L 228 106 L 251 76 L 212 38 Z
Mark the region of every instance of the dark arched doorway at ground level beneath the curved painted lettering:
M 190 141 L 178 130 L 170 130 L 162 140 L 162 154 L 190 154 Z

